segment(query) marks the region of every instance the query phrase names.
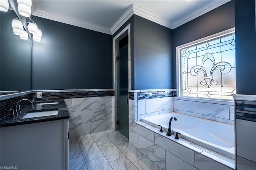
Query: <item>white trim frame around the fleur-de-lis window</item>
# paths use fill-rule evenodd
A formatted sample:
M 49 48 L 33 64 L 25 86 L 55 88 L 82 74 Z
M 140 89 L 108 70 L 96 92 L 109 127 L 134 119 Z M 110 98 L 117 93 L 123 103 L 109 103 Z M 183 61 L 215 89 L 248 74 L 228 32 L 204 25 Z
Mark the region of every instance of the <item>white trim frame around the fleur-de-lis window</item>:
M 182 83 L 181 82 L 181 68 L 182 68 L 182 63 L 181 63 L 181 57 L 180 57 L 180 48 L 188 47 L 195 45 L 197 43 L 203 43 L 206 41 L 210 41 L 212 39 L 216 39 L 222 36 L 226 36 L 229 34 L 234 34 L 235 33 L 235 28 L 230 28 L 228 30 L 219 32 L 217 34 L 213 34 L 211 36 L 201 38 L 199 40 L 195 40 L 193 42 L 189 42 L 183 45 L 180 45 L 176 47 L 176 70 L 177 70 L 177 99 L 178 100 L 187 100 L 187 101 L 198 101 L 198 102 L 205 102 L 205 103 L 216 103 L 216 104 L 222 104 L 222 105 L 234 105 L 234 100 L 233 99 L 207 99 L 207 98 L 202 98 L 202 97 L 185 97 L 182 96 Z

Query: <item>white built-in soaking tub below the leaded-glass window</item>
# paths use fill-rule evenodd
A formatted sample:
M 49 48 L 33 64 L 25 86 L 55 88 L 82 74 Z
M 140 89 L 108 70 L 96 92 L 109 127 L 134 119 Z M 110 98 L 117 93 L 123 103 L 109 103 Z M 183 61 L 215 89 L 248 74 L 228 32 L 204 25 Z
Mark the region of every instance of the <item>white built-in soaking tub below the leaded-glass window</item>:
M 168 131 L 170 118 L 174 116 L 177 121 L 172 119 L 172 134 L 179 132 L 181 138 L 189 140 L 195 144 L 218 152 L 224 156 L 234 159 L 234 125 L 210 121 L 184 115 L 180 113 L 166 113 L 151 117 L 142 118 L 141 121 L 154 127 L 163 127 L 164 132 Z

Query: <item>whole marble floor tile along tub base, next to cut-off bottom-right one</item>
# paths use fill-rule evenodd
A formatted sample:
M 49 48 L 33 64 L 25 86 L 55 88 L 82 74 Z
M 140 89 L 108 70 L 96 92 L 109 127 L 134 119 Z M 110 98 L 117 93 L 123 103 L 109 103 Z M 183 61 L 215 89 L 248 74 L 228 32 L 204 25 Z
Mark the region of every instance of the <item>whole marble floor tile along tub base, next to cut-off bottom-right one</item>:
M 138 149 L 132 146 L 129 142 L 116 145 L 116 147 L 131 161 L 136 162 L 146 156 Z

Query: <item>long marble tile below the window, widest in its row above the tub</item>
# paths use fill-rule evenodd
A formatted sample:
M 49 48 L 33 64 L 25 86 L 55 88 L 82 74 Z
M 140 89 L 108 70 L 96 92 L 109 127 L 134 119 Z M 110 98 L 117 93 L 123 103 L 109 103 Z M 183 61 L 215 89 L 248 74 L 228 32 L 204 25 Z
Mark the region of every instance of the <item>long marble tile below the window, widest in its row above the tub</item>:
M 194 113 L 229 119 L 229 105 L 193 102 Z

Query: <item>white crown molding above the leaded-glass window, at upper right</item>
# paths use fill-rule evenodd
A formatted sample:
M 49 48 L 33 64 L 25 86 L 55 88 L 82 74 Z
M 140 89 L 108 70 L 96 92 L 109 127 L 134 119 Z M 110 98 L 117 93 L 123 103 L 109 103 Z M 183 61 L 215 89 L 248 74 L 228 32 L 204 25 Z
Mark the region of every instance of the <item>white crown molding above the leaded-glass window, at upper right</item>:
M 206 14 L 207 12 L 209 12 L 215 8 L 218 8 L 219 6 L 222 6 L 223 4 L 226 4 L 229 1 L 230 0 L 214 0 L 213 2 L 204 6 L 203 8 L 195 10 L 194 12 L 191 12 L 190 14 L 180 18 L 179 20 L 174 21 L 172 29 L 177 28 L 191 20 L 194 20 L 195 18 L 197 18 L 203 14 Z

